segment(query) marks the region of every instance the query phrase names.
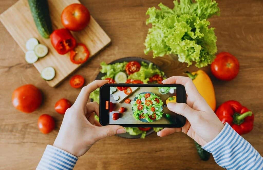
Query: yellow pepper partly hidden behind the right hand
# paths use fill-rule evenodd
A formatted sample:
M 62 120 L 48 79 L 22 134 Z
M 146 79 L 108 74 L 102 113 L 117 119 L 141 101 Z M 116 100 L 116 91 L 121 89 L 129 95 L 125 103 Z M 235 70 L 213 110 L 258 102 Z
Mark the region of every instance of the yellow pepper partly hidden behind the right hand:
M 215 90 L 209 76 L 203 70 L 198 70 L 192 73 L 185 71 L 185 73 L 193 80 L 198 92 L 201 94 L 201 96 L 203 96 L 208 105 L 215 111 Z

